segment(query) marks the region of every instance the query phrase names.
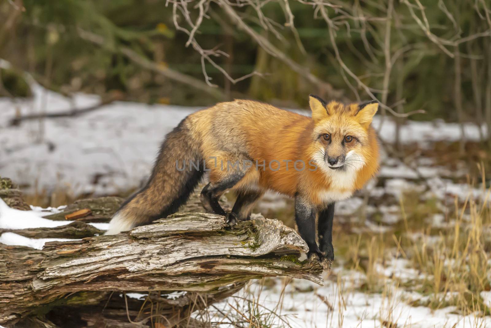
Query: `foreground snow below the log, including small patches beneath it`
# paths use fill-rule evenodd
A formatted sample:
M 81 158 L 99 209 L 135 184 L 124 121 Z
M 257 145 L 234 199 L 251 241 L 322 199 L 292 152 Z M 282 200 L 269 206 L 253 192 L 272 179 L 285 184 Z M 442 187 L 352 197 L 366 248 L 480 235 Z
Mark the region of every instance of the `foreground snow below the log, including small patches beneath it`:
M 454 307 L 432 312 L 426 306 L 410 306 L 405 300 L 411 300 L 415 295 L 390 285 L 387 285 L 385 293 L 382 294 L 356 292 L 349 286 L 356 277 L 357 273 L 353 272 L 352 276 L 345 276 L 340 283 L 327 281 L 322 287 L 297 279 L 286 286 L 282 280 L 275 279 L 273 286 L 268 288 L 253 283 L 247 291 L 239 292 L 237 298 L 229 298 L 216 306 L 222 313 L 235 311 L 229 304 L 242 313 L 247 313 L 248 305 L 242 298 L 252 298 L 255 303 L 260 304 L 256 312 L 257 316 L 267 317 L 270 314 L 269 319 L 263 319 L 264 327 L 484 328 L 491 324 L 489 317 L 482 318 L 476 314 L 461 316 L 451 313 L 455 310 Z M 126 296 L 144 300 L 147 294 L 128 293 Z M 179 297 L 179 295 L 162 296 L 173 299 Z M 121 294 L 119 297 L 124 296 Z M 270 310 L 275 314 L 272 315 Z M 223 319 L 218 312 L 208 315 L 212 320 Z

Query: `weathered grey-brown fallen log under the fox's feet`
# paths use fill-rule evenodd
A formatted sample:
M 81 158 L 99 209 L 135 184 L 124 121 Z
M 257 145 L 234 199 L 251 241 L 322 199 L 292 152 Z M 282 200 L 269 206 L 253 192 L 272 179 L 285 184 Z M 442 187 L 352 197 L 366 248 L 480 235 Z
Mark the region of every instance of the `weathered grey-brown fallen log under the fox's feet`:
M 181 210 L 202 211 L 197 199 L 191 197 Z M 48 217 L 60 220 L 75 210 L 91 209 L 91 217 L 80 220 L 107 222 L 120 201 L 80 201 Z M 12 232 L 31 238 L 102 233 L 79 221 Z M 204 212 L 176 213 L 115 236 L 50 242 L 43 250 L 0 244 L 0 325 L 68 327 L 62 323 L 73 321 L 70 327 L 136 327 L 130 316 L 145 327 L 155 306 L 165 317 L 163 323 L 178 325 L 250 279 L 290 276 L 321 284 L 321 266 L 298 260 L 306 251 L 300 236 L 278 220 L 241 222 L 231 230 L 224 217 Z M 125 301 L 128 291 L 150 291 L 148 302 Z M 188 294 L 176 300 L 161 297 L 171 291 Z

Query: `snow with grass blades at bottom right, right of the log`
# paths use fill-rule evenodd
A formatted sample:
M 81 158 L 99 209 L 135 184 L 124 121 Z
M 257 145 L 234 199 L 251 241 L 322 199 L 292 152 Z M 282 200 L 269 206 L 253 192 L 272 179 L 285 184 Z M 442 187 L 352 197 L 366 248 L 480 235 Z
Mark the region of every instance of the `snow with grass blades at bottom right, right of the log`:
M 398 268 L 401 270 L 403 268 Z M 345 272 L 346 273 L 346 272 Z M 328 281 L 319 287 L 310 282 L 295 280 L 285 288 L 280 315 L 288 318 L 292 327 L 485 327 L 491 319 L 475 315 L 451 314 L 447 307 L 432 311 L 425 306 L 410 306 L 403 299 L 414 297 L 388 285 L 385 294 L 365 294 L 350 288 L 356 279 L 344 276 L 341 283 Z M 258 289 L 258 286 L 254 286 Z M 283 286 L 281 281 L 261 293 L 260 304 L 274 308 Z M 314 289 L 314 291 L 311 291 Z M 303 291 L 303 292 L 302 292 Z M 258 292 L 256 292 L 258 294 Z M 409 294 L 409 295 L 408 295 Z M 324 297 L 323 299 L 321 297 Z M 332 308 L 329 308 L 332 306 Z M 222 304 L 226 309 L 228 304 Z M 385 322 L 385 324 L 383 324 Z M 476 325 L 477 324 L 477 325 Z M 397 326 L 394 326 L 397 325 Z

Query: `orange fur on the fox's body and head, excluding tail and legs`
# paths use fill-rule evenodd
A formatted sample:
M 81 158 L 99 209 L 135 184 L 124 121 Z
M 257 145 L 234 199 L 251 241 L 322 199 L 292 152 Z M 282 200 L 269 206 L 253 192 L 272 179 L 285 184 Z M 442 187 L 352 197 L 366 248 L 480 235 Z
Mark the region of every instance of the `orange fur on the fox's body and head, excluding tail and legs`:
M 236 184 L 235 189 L 271 189 L 292 197 L 301 191 L 308 195 L 312 204 L 322 206 L 325 203 L 320 196 L 323 191 L 351 194 L 362 188 L 379 167 L 379 147 L 375 131 L 370 126 L 376 108 L 373 113 L 368 113 L 367 109 L 357 113 L 358 104 L 330 102 L 325 108 L 315 99 L 311 99 L 311 108 L 315 120 L 248 100 L 219 103 L 192 114 L 191 130 L 201 143 L 204 158 L 217 156 L 218 163 L 220 160 L 224 163 L 223 168 L 219 164 L 218 167 L 208 165 L 211 168 L 210 181 L 215 182 L 226 176 L 226 161 L 244 159 L 241 157 L 241 152 L 244 152 L 253 161 L 253 167 Z M 333 175 L 339 174 L 334 170 L 329 172 L 327 169 L 326 172 L 321 167 L 314 171 L 308 169 L 309 161 L 314 159 L 315 153 L 326 148 L 319 140 L 319 135 L 323 133 L 329 133 L 338 144 L 348 134 L 359 139 L 353 149 L 349 150 L 363 156 L 364 165 L 357 170 L 351 185 L 333 183 Z M 259 166 L 259 170 L 256 170 L 256 160 L 259 164 L 264 161 L 266 168 Z M 291 160 L 288 170 L 283 160 Z M 306 168 L 295 170 L 293 166 L 296 160 L 305 163 Z M 207 164 L 213 161 L 207 159 Z M 278 170 L 275 161 L 280 162 Z M 268 165 L 270 162 L 271 168 Z M 300 169 L 300 163 L 297 167 Z

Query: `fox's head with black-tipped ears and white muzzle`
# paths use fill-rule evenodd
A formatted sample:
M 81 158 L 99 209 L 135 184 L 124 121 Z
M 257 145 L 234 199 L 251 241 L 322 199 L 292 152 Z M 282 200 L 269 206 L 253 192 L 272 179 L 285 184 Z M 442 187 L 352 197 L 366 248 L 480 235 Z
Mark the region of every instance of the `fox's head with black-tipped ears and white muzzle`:
M 313 157 L 318 165 L 331 170 L 361 169 L 371 157 L 370 123 L 379 108 L 378 101 L 344 105 L 326 103 L 311 94 L 309 105 L 314 120 Z

